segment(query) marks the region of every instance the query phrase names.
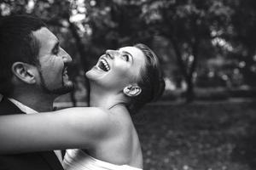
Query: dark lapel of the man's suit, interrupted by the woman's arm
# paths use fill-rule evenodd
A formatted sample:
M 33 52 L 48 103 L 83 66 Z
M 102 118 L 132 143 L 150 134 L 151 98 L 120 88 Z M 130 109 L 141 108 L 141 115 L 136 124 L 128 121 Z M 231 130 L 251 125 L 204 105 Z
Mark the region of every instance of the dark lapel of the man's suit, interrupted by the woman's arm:
M 13 104 L 9 99 L 3 97 L 2 101 L 0 102 L 0 115 L 10 115 L 10 114 L 26 114 Z M 44 152 L 37 152 L 44 161 L 49 164 L 54 170 L 63 170 L 61 166 L 61 162 L 58 160 L 57 156 L 55 156 L 54 151 L 44 151 Z

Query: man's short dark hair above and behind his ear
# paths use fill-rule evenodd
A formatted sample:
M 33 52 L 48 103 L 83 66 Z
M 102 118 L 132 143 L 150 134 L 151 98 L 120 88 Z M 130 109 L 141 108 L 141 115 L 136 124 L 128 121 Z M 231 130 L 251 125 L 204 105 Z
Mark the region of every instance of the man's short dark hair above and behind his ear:
M 46 26 L 30 15 L 11 15 L 0 20 L 0 94 L 8 96 L 13 89 L 12 65 L 25 62 L 38 64 L 40 44 L 32 31 Z

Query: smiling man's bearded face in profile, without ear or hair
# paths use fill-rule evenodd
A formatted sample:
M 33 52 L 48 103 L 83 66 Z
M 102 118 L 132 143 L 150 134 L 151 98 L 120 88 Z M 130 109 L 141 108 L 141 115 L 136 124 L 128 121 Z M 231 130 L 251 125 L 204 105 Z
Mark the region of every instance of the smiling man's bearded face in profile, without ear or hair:
M 60 47 L 59 40 L 46 27 L 34 31 L 40 44 L 38 73 L 41 88 L 47 94 L 67 94 L 73 90 L 73 82 L 67 76 L 67 64 L 72 59 Z

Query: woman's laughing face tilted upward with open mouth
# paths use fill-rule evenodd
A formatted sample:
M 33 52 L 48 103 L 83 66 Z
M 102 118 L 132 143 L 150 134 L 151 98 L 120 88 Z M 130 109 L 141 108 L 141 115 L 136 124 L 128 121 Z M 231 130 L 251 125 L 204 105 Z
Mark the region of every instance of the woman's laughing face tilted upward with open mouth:
M 108 89 L 122 90 L 125 86 L 137 82 L 145 65 L 145 56 L 139 48 L 107 50 L 97 64 L 86 72 L 86 77 Z

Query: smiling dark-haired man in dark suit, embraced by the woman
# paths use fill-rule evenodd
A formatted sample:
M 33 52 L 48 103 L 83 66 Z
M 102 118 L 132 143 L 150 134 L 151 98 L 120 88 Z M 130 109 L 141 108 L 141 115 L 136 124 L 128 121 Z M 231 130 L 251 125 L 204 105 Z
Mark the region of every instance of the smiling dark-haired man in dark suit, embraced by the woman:
M 52 111 L 61 94 L 73 90 L 67 76 L 72 61 L 44 22 L 14 15 L 0 22 L 0 115 Z M 1 144 L 1 142 L 0 142 Z M 63 170 L 57 150 L 0 156 L 0 169 Z

